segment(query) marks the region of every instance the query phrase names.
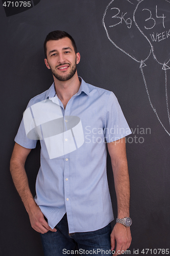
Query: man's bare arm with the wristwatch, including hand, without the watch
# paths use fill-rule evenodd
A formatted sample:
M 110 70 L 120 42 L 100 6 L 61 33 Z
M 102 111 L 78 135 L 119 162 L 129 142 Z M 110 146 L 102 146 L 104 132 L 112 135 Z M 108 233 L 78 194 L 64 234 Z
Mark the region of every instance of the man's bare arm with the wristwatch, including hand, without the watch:
M 123 219 L 129 217 L 130 201 L 130 184 L 125 138 L 107 143 L 107 146 L 112 163 L 117 197 L 117 218 Z M 132 240 L 130 227 L 125 227 L 123 224 L 116 223 L 111 233 L 111 250 L 114 250 L 115 248 L 115 240 L 115 254 L 121 254 L 121 251 L 126 251 Z

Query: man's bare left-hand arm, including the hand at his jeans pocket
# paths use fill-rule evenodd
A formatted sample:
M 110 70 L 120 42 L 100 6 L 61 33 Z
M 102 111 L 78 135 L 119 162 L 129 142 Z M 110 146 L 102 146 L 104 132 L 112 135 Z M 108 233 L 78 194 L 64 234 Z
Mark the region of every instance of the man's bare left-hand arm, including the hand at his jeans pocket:
M 25 162 L 31 150 L 15 143 L 14 150 L 10 161 L 10 171 L 14 185 L 22 199 L 23 204 L 30 217 L 31 226 L 40 233 L 46 233 L 48 230 L 56 231 L 48 226 L 44 216 L 35 203 L 29 188 L 29 182 L 25 170 Z

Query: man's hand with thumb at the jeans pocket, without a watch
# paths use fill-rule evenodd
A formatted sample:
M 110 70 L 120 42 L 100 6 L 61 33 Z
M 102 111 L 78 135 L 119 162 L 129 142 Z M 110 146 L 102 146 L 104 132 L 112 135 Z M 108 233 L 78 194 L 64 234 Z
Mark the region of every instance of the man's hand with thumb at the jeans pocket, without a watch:
M 42 211 L 38 205 L 35 205 L 31 212 L 29 212 L 29 217 L 32 228 L 41 234 L 44 234 L 49 230 L 52 232 L 57 231 L 56 228 L 52 229 L 50 226 L 48 226 L 48 223 L 45 221 Z

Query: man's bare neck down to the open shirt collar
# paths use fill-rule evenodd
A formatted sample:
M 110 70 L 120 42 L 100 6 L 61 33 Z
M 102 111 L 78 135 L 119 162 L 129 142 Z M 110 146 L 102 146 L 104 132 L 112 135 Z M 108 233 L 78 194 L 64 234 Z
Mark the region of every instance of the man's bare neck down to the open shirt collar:
M 67 81 L 59 81 L 56 77 L 54 77 L 55 90 L 58 98 L 63 103 L 64 109 L 66 104 L 70 100 L 70 98 L 75 95 L 80 88 L 81 82 L 79 81 L 79 77 L 77 71 L 71 79 Z

